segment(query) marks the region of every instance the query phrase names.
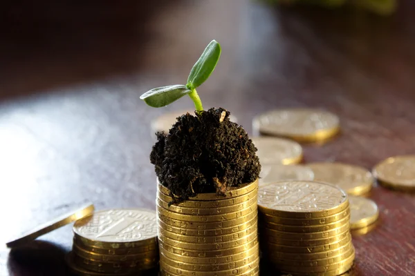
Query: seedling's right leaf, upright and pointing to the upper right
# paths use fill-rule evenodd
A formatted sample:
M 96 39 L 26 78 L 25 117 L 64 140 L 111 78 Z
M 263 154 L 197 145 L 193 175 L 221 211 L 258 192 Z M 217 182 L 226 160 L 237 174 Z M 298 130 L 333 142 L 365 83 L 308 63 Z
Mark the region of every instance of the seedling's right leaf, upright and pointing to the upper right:
M 194 63 L 192 71 L 187 78 L 187 88 L 193 90 L 197 88 L 212 74 L 216 64 L 221 57 L 221 46 L 216 40 L 212 40 L 205 48 L 199 60 Z

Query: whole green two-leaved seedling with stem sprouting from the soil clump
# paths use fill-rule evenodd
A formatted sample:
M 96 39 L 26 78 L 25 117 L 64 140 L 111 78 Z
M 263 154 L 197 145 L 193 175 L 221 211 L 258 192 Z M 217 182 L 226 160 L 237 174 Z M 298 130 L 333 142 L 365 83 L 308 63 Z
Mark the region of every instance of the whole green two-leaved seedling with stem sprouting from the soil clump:
M 194 102 L 197 112 L 203 111 L 201 98 L 196 92 L 196 88 L 208 79 L 212 74 L 221 56 L 221 46 L 216 40 L 212 40 L 203 51 L 198 61 L 194 63 L 186 85 L 176 84 L 174 86 L 163 86 L 151 89 L 140 96 L 149 106 L 160 108 L 180 99 L 184 95 L 189 95 Z

